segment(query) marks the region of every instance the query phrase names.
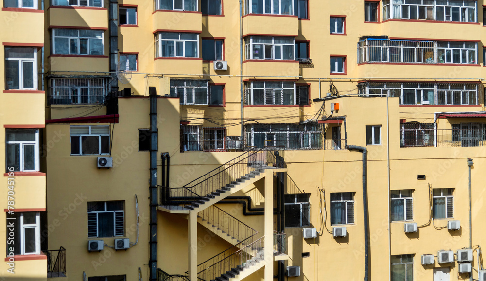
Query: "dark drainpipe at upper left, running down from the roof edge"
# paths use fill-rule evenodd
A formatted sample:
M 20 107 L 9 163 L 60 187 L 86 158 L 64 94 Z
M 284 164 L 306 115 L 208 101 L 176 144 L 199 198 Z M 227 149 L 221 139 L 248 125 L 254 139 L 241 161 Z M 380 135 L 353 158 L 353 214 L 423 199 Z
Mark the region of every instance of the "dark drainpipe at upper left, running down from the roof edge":
M 108 14 L 110 17 L 110 26 L 108 31 L 110 37 L 110 92 L 116 93 L 118 91 L 118 79 L 116 74 L 118 63 L 118 0 L 110 0 Z

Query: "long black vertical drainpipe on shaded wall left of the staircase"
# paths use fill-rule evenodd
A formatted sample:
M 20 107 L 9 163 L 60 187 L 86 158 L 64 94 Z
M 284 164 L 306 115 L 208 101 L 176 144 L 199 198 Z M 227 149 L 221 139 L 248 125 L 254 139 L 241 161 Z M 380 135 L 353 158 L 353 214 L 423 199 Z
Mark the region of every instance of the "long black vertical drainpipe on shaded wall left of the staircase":
M 157 281 L 157 89 L 149 87 L 150 96 L 150 281 Z

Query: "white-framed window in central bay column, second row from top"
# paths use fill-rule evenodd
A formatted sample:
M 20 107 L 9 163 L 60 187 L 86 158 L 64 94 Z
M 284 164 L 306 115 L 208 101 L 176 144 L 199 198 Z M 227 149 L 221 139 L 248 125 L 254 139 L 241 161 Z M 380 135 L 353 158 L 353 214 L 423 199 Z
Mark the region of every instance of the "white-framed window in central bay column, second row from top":
M 257 43 L 254 42 L 255 39 L 263 39 L 263 38 L 272 38 L 272 43 Z M 275 43 L 276 40 L 285 40 L 285 39 L 290 39 L 292 38 L 293 42 L 292 43 Z M 245 59 L 250 60 L 295 60 L 295 37 L 270 37 L 270 36 L 250 36 L 246 37 L 244 40 L 245 44 Z M 263 58 L 254 58 L 253 53 L 256 45 L 263 45 Z M 266 58 L 267 57 L 267 50 L 266 47 L 271 46 L 271 58 Z M 283 59 L 283 46 L 292 46 L 292 57 L 290 59 Z M 280 58 L 276 58 L 276 52 L 275 50 L 279 48 L 280 49 Z

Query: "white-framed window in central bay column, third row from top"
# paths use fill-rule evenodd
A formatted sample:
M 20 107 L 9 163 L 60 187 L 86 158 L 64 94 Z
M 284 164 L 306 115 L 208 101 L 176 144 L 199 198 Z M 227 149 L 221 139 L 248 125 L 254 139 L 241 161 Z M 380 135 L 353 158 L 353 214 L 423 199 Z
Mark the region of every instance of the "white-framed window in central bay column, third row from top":
M 264 83 L 263 84 L 263 88 L 256 88 L 254 83 L 255 82 L 258 82 L 258 83 Z M 278 87 L 278 88 L 270 88 L 268 87 L 267 88 L 267 83 L 277 83 L 277 82 L 280 82 L 280 85 L 281 87 Z M 246 105 L 255 105 L 255 102 L 254 102 L 254 96 L 253 96 L 253 91 L 255 89 L 260 89 L 260 90 L 263 90 L 263 105 L 296 105 L 297 104 L 297 100 L 296 100 L 296 91 L 295 91 L 295 82 L 294 85 L 293 85 L 293 88 L 284 88 L 284 83 L 288 83 L 288 81 L 249 81 L 249 82 L 246 82 L 245 84 L 245 88 L 246 88 Z M 292 97 L 292 99 L 294 100 L 294 103 L 292 104 L 284 104 L 283 103 L 283 91 L 284 90 L 293 90 L 294 91 L 294 95 Z M 270 99 L 267 99 L 268 95 L 271 96 L 271 102 L 270 102 Z M 276 98 L 277 96 L 280 96 L 279 98 Z M 280 99 L 280 103 L 278 104 L 278 99 Z

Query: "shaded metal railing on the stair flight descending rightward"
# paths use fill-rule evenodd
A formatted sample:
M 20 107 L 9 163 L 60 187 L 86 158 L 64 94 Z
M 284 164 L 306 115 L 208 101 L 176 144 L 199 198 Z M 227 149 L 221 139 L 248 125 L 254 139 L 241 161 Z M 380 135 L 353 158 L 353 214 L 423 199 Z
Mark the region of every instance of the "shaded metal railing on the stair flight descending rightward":
M 202 220 L 207 221 L 212 226 L 236 239 L 238 243 L 258 233 L 257 230 L 214 205 L 198 212 L 197 215 Z

